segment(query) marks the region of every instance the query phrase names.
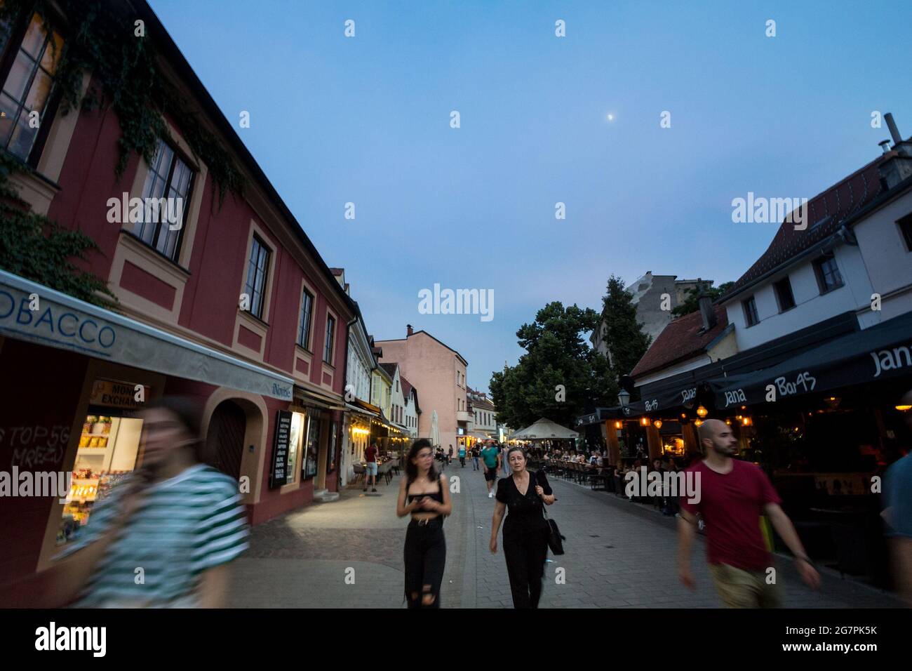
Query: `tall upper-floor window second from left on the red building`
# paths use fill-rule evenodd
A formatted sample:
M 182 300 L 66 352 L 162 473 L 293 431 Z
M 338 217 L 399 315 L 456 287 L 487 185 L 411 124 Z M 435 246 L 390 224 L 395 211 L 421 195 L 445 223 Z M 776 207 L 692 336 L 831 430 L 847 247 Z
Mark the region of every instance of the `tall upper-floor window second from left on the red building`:
M 159 140 L 142 187 L 143 208 L 133 233 L 144 243 L 176 261 L 186 221 L 193 171 L 171 147 Z

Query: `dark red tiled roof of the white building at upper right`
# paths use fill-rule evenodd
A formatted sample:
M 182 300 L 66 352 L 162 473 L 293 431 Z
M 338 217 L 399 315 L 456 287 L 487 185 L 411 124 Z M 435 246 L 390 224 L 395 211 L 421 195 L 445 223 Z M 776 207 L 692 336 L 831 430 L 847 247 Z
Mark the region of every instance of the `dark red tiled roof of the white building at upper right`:
M 794 223 L 783 222 L 772 238 L 769 248 L 735 282 L 730 293 L 761 278 L 773 268 L 833 235 L 848 216 L 854 215 L 873 201 L 883 190 L 877 166 L 885 158 L 888 157 L 878 156 L 864 168 L 810 199 L 807 203 L 807 228 L 803 231 L 796 231 Z

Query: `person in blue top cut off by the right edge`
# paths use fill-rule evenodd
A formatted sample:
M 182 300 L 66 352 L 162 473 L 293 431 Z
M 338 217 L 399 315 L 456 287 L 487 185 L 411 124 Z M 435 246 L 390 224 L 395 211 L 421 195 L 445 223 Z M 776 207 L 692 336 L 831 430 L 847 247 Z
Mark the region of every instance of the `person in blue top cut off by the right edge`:
M 912 405 L 912 390 L 899 404 L 900 407 Z M 912 410 L 900 412 L 912 435 Z M 883 498 L 896 591 L 907 605 L 912 606 L 912 452 L 897 459 L 886 471 Z

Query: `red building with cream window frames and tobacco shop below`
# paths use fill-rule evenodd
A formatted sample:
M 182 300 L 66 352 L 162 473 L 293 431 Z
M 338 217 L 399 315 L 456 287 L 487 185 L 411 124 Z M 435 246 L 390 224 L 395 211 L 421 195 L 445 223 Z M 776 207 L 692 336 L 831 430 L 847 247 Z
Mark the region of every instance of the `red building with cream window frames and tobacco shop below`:
M 121 121 L 111 109 L 64 115 L 52 95 L 40 142 L 30 146 L 16 140 L 21 123 L 0 120 L 0 151 L 27 166 L 10 178 L 21 198 L 98 244 L 100 252 L 84 267 L 107 280 L 119 301 L 110 312 L 15 276 L 0 278 L 0 470 L 68 472 L 83 457 L 85 464 L 100 458 L 110 467 L 117 456 L 101 455 L 105 448 L 92 441 L 115 440 L 112 426 L 116 440 L 126 441 L 138 431 L 140 409 L 114 391 L 141 387 L 147 401 L 191 395 L 204 409 L 203 435 L 216 466 L 238 478 L 257 523 L 306 505 L 316 490 L 337 490 L 347 325 L 356 310 L 148 5 L 137 3 L 136 11 L 161 54 L 163 76 L 232 155 L 244 196 L 227 194 L 219 202 L 209 166 L 175 119 L 166 117 L 171 137 L 160 139 L 152 163 L 132 154 L 119 179 Z M 37 15 L 9 27 L 0 42 L 7 88 L 16 83 L 10 83 L 16 58 L 42 62 L 28 51 L 35 49 L 30 36 L 57 38 L 47 38 Z M 65 42 L 67 35 L 58 38 Z M 84 90 L 91 78 L 85 73 Z M 26 90 L 23 100 L 28 96 Z M 145 204 L 161 197 L 180 204 L 171 218 L 145 207 L 138 221 L 130 216 L 130 199 Z M 38 309 L 26 313 L 24 301 L 33 294 Z M 115 333 L 117 343 L 106 345 Z M 125 341 L 137 344 L 119 354 L 102 351 Z M 280 413 L 292 414 L 295 444 L 276 471 Z M 57 429 L 53 445 L 49 427 Z M 140 463 L 141 452 L 135 466 Z M 283 470 L 286 484 L 277 484 Z M 0 531 L 0 582 L 47 567 L 67 507 L 57 498 L 8 498 L 3 505 L 5 519 L 16 523 Z

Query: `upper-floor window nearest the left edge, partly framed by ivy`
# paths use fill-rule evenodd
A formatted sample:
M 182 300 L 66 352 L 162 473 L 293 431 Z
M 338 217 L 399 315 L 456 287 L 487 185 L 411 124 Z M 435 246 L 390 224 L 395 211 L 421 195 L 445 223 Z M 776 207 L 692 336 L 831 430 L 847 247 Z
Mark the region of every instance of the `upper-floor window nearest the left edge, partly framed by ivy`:
M 48 33 L 37 14 L 18 29 L 0 26 L 0 48 L 7 38 L 12 48 L 0 62 L 0 146 L 34 167 L 58 98 L 54 74 L 64 41 Z

